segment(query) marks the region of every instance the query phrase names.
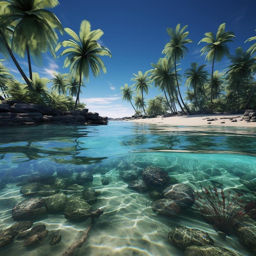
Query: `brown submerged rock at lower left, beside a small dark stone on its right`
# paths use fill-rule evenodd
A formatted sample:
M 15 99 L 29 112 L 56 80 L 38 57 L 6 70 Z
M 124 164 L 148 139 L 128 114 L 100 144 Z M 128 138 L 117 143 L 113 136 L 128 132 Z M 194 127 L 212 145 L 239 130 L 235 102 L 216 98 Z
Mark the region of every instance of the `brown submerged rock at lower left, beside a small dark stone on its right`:
M 45 225 L 37 225 L 31 228 L 31 231 L 27 234 L 27 238 L 23 242 L 22 246 L 31 246 L 35 243 L 41 242 L 48 234 L 48 230 Z

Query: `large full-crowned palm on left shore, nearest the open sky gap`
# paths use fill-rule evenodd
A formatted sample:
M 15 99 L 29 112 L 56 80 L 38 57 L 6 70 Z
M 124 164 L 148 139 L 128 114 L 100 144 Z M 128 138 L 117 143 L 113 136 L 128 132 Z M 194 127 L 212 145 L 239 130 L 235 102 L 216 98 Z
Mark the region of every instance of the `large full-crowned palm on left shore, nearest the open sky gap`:
M 65 31 L 74 40 L 69 39 L 58 43 L 56 51 L 61 46 L 69 47 L 63 50 L 58 57 L 68 54 L 64 61 L 64 67 L 70 66 L 70 73 L 75 79 L 79 80 L 79 88 L 74 106 L 76 108 L 83 76 L 88 80 L 90 69 L 94 77 L 99 76 L 101 70 L 103 73 L 106 73 L 106 67 L 99 56 L 111 57 L 111 52 L 108 48 L 97 43 L 97 40 L 103 35 L 103 31 L 101 29 L 91 31 L 91 24 L 87 20 L 81 22 L 79 36 L 72 29 L 65 28 Z

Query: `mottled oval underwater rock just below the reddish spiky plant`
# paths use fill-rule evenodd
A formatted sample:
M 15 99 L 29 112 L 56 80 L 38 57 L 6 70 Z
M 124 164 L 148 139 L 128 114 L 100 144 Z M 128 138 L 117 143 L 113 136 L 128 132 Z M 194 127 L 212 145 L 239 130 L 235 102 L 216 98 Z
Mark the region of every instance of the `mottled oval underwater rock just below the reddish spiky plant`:
M 213 245 L 213 240 L 208 233 L 200 229 L 186 227 L 175 227 L 172 229 L 168 234 L 168 240 L 183 250 L 191 245 Z

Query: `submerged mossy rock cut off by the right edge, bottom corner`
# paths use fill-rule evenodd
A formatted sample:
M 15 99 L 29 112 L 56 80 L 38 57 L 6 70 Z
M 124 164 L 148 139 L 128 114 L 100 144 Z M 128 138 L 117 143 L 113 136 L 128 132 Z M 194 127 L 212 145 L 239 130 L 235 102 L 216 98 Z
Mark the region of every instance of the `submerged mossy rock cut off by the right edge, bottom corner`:
M 239 243 L 256 254 L 256 222 L 241 221 L 236 225 Z

